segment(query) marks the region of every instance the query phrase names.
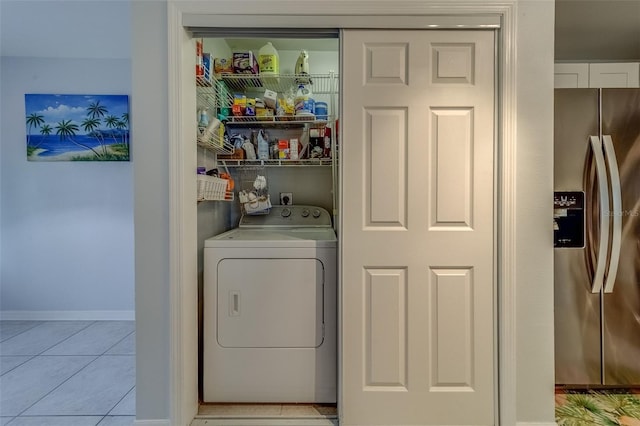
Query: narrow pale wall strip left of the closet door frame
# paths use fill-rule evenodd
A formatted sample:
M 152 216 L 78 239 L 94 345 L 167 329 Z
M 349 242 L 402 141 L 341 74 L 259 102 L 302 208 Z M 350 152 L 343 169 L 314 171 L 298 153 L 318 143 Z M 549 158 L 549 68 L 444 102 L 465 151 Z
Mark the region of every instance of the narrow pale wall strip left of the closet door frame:
M 136 418 L 168 419 L 169 148 L 167 135 L 167 5 L 133 1 L 132 118 L 136 282 Z M 195 191 L 195 188 L 194 188 Z M 195 248 L 195 242 L 194 242 Z M 194 316 L 197 313 L 193 312 Z M 196 358 L 197 359 L 197 358 Z M 158 426 L 168 425 L 159 423 Z

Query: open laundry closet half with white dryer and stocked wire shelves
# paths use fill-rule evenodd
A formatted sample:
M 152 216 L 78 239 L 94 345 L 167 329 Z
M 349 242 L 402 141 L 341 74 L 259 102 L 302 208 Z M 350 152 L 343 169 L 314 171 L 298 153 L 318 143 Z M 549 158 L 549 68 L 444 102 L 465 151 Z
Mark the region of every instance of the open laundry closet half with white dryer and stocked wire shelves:
M 194 38 L 200 412 L 335 424 L 337 33 Z

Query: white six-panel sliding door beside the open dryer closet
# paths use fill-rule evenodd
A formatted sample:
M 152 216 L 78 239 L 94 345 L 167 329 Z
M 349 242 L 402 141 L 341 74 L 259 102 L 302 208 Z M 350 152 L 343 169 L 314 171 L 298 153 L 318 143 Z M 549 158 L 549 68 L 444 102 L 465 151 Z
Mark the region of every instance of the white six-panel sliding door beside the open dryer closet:
M 495 422 L 494 33 L 343 33 L 344 425 Z

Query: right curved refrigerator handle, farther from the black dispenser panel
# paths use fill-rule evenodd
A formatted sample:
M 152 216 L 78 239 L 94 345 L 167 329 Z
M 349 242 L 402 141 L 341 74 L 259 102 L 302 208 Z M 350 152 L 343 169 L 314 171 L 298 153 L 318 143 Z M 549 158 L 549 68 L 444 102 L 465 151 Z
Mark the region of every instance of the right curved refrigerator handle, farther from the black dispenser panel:
M 611 293 L 613 292 L 613 286 L 616 282 L 618 262 L 620 260 L 620 240 L 622 237 L 622 195 L 620 189 L 620 173 L 618 172 L 618 160 L 616 158 L 616 151 L 613 147 L 611 136 L 603 135 L 602 143 L 604 144 L 604 152 L 606 154 L 607 167 L 609 169 L 609 178 L 611 180 L 611 215 L 613 215 L 611 253 L 609 254 L 609 267 L 607 269 L 607 277 L 604 283 L 604 292 Z

